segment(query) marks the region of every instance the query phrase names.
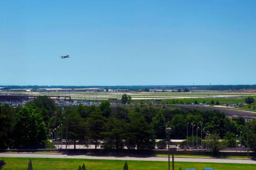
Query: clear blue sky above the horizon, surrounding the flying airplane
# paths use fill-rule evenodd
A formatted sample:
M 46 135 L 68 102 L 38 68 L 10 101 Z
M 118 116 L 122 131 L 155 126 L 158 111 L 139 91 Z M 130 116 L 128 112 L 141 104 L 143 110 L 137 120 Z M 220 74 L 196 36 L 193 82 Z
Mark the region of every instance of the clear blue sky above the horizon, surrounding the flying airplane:
M 0 85 L 255 84 L 256 1 L 2 1 L 0 73 Z

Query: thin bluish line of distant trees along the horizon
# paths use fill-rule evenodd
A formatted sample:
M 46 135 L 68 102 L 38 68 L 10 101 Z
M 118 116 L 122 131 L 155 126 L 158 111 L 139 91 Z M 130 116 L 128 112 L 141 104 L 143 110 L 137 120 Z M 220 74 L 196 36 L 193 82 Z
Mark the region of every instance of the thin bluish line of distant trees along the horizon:
M 256 89 L 256 85 L 143 85 L 143 86 L 0 86 L 4 88 L 10 89 L 22 89 L 22 88 L 104 88 L 104 89 L 127 89 L 127 90 L 144 90 L 144 89 L 185 89 L 188 88 L 190 90 L 251 90 Z

